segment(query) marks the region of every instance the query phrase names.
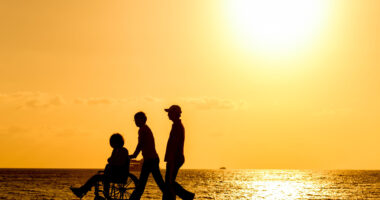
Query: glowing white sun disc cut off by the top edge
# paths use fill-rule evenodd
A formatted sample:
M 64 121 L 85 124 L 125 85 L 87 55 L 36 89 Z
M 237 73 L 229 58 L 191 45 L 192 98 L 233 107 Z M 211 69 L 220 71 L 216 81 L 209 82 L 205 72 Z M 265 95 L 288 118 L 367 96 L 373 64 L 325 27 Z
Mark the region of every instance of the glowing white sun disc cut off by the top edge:
M 324 0 L 233 0 L 226 9 L 234 37 L 244 48 L 276 56 L 310 45 L 327 13 Z

